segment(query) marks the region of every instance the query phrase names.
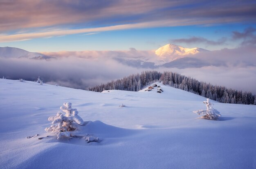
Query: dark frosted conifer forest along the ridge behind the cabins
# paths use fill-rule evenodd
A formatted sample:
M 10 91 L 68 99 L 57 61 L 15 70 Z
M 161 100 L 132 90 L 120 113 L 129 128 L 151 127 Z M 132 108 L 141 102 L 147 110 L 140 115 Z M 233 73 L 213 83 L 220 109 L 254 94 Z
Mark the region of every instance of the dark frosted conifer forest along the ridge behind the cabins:
M 122 79 L 112 80 L 106 84 L 89 88 L 90 91 L 101 92 L 103 90 L 139 91 L 153 82 L 162 82 L 177 89 L 204 96 L 222 103 L 256 105 L 256 96 L 252 92 L 237 91 L 224 86 L 211 85 L 198 81 L 195 78 L 183 76 L 179 73 L 165 71 L 143 71 L 141 74 L 132 74 Z

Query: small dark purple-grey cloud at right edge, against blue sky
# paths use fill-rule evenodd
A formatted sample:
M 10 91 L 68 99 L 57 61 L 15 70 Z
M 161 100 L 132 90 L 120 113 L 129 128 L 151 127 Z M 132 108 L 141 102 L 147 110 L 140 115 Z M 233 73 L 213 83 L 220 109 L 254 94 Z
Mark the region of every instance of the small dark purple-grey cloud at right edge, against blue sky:
M 248 27 L 243 32 L 233 31 L 232 40 L 243 40 L 242 45 L 256 44 L 256 29 Z

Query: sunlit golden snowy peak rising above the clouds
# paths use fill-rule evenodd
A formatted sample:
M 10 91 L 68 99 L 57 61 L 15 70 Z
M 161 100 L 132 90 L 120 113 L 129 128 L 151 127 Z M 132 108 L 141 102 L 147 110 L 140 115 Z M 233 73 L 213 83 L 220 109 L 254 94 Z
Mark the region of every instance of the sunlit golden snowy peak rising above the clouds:
M 155 54 L 162 59 L 168 59 L 169 61 L 181 58 L 189 54 L 195 54 L 202 51 L 208 51 L 202 48 L 184 48 L 175 44 L 166 44 L 155 51 Z

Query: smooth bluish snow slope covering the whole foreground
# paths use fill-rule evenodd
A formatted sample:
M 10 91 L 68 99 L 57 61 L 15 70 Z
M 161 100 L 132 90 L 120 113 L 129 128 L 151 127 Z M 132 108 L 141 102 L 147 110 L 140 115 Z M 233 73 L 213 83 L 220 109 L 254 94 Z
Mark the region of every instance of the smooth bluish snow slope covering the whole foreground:
M 159 85 L 96 93 L 0 79 L 0 168 L 256 168 L 256 106 L 215 102 L 221 120 L 199 119 L 206 98 Z M 26 139 L 45 135 L 63 102 L 103 141 Z

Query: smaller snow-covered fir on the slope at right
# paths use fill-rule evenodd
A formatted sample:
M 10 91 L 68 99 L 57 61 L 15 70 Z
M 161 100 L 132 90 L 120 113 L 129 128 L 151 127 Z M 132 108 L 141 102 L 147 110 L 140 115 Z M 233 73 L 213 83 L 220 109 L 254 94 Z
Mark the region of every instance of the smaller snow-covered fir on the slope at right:
M 212 103 L 209 101 L 209 98 L 207 98 L 207 101 L 204 101 L 204 104 L 206 105 L 206 110 L 198 110 L 193 111 L 193 113 L 197 113 L 198 115 L 204 115 L 202 116 L 205 119 L 208 120 L 218 120 L 218 118 L 221 116 L 220 112 L 216 109 L 213 109 Z

